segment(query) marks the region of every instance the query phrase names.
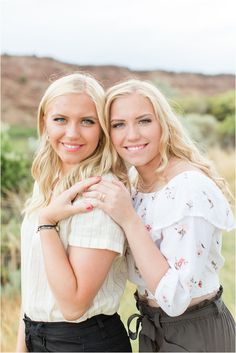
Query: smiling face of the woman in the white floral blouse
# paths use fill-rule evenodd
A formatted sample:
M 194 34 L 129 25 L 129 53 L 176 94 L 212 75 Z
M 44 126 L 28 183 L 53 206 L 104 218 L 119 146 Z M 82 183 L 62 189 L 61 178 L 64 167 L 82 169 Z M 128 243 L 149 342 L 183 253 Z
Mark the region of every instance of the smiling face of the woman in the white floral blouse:
M 156 167 L 161 126 L 148 98 L 132 93 L 115 99 L 110 124 L 113 145 L 122 159 L 135 167 Z

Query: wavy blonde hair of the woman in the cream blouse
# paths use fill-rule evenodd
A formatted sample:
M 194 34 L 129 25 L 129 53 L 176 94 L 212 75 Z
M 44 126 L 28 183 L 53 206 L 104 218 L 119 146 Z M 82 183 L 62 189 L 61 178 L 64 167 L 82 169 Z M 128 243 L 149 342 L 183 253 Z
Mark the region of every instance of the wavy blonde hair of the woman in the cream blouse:
M 44 116 L 49 103 L 53 99 L 70 93 L 86 93 L 92 99 L 96 106 L 98 120 L 101 125 L 101 136 L 94 153 L 81 161 L 68 174 L 62 176 L 56 185 L 56 193 L 62 192 L 79 180 L 95 175 L 103 175 L 112 169 L 110 137 L 103 117 L 105 102 L 103 87 L 88 74 L 73 73 L 63 76 L 50 84 L 39 104 L 39 147 L 31 169 L 32 176 L 38 184 L 39 192 L 36 193 L 36 196 L 33 193 L 31 199 L 27 201 L 25 212 L 31 212 L 34 209 L 46 206 L 50 201 L 55 176 L 61 170 L 61 160 L 47 139 Z

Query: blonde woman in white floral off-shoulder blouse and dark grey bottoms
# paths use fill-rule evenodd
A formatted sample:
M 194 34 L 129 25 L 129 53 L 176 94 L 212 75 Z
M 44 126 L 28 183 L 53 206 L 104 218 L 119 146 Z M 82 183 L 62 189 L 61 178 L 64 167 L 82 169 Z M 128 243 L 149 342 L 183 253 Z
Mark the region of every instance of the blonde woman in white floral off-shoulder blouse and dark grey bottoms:
M 140 310 L 128 323 L 141 322 L 140 351 L 234 351 L 235 323 L 219 282 L 221 233 L 234 227 L 224 181 L 152 84 L 111 87 L 105 118 L 117 170 L 125 173 L 124 162 L 133 166 L 132 200 L 118 181 L 93 185 L 84 195 L 126 234 Z

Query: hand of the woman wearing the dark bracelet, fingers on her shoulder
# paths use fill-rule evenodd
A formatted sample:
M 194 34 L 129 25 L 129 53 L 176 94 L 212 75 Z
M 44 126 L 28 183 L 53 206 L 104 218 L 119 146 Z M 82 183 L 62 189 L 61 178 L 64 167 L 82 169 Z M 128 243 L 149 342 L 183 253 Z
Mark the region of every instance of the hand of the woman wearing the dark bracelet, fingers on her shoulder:
M 52 198 L 49 205 L 44 207 L 39 213 L 39 224 L 56 224 L 62 219 L 68 218 L 78 213 L 89 212 L 93 209 L 91 202 L 82 200 L 78 204 L 73 204 L 78 195 L 81 195 L 92 185 L 99 183 L 101 177 L 92 177 L 74 184 L 59 196 Z

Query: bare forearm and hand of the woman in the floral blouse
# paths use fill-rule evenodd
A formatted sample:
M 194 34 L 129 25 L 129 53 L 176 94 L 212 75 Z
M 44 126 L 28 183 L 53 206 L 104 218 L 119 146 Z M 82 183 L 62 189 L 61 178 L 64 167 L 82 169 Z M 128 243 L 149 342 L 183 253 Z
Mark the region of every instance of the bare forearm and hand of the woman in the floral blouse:
M 149 290 L 155 293 L 169 264 L 136 214 L 128 190 L 121 182 L 102 181 L 90 187 L 83 196 L 96 199 L 94 205 L 106 212 L 124 230 L 136 265 Z

